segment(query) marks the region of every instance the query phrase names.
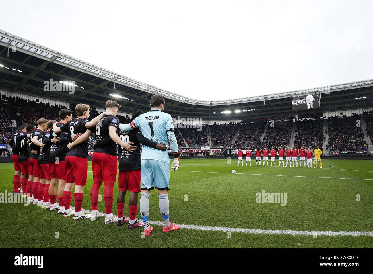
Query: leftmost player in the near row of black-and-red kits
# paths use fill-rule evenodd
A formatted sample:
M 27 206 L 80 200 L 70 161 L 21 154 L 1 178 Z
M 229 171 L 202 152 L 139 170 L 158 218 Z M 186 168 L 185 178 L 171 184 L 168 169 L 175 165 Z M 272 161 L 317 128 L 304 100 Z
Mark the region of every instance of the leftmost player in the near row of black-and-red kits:
M 9 141 L 10 147 L 12 147 L 12 160 L 14 165 L 14 177 L 13 177 L 13 188 L 15 194 L 21 194 L 23 196 L 27 195 L 26 185 L 27 185 L 27 173 L 22 174 L 21 164 L 18 161 L 19 149 L 21 149 L 21 140 L 27 135 L 26 126 L 29 124 L 23 124 L 21 130 L 17 132 L 14 137 Z M 22 175 L 22 179 L 21 179 Z M 22 192 L 20 189 L 20 184 L 22 183 Z

